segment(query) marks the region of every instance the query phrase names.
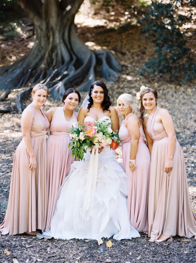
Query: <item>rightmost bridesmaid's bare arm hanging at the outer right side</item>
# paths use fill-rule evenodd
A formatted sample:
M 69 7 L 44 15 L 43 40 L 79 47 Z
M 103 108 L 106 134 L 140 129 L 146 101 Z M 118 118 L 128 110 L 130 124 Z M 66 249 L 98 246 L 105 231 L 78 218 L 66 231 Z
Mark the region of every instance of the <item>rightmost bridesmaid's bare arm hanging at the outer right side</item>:
M 172 117 L 167 110 L 160 110 L 160 119 L 168 135 L 167 160 L 164 167 L 164 172 L 168 173 L 173 169 L 173 157 L 176 145 L 176 135 Z

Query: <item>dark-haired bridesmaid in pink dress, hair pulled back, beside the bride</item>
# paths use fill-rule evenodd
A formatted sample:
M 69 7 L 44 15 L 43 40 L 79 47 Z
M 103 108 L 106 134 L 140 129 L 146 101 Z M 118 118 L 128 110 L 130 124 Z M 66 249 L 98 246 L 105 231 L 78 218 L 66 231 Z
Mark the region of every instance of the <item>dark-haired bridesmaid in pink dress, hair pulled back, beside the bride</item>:
M 68 89 L 62 98 L 63 107 L 51 108 L 46 112 L 50 122 L 50 136 L 47 139 L 47 220 L 46 232 L 57 201 L 57 192 L 65 177 L 70 172 L 72 151 L 67 146 L 70 142 L 68 133 L 73 122 L 77 122 L 78 114 L 74 111 L 81 100 L 79 92 Z

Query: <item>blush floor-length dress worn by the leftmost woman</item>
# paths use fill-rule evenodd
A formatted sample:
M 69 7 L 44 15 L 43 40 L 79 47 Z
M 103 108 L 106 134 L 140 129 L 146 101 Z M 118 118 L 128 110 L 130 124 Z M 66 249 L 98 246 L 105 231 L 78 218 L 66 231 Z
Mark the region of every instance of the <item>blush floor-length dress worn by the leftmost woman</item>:
M 24 139 L 16 148 L 9 200 L 6 215 L 0 225 L 2 234 L 21 234 L 43 230 L 46 225 L 46 130 L 49 122 L 30 104 L 34 118 L 31 127 L 31 141 L 37 161 L 34 171 L 29 169 L 30 157 Z

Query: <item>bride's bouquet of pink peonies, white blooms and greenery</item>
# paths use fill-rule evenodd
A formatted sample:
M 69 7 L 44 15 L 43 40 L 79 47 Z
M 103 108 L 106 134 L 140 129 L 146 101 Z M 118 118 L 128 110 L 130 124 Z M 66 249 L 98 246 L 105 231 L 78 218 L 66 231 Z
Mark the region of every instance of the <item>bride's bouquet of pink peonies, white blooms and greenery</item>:
M 72 148 L 72 157 L 82 160 L 87 148 L 110 147 L 115 150 L 118 148 L 120 138 L 117 130 L 113 131 L 109 125 L 112 122 L 103 121 L 85 121 L 73 123 L 70 129 L 71 141 L 68 148 Z

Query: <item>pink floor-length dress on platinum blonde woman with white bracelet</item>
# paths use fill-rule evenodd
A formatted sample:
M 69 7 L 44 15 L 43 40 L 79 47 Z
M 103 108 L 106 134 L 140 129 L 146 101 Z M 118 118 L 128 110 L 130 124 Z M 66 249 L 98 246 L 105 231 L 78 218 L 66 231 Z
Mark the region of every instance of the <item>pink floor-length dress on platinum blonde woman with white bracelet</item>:
M 119 136 L 122 140 L 122 159 L 123 169 L 129 178 L 128 191 L 128 214 L 130 224 L 137 229 L 138 232 L 147 232 L 148 230 L 148 188 L 150 175 L 150 153 L 143 139 L 143 128 L 140 126 L 140 137 L 138 143 L 138 150 L 135 157 L 136 169 L 131 172 L 129 168 L 131 138 L 127 127 L 124 126 L 130 113 L 125 119 L 119 129 Z

